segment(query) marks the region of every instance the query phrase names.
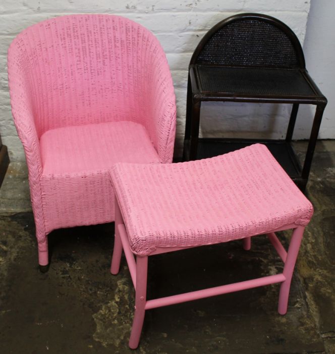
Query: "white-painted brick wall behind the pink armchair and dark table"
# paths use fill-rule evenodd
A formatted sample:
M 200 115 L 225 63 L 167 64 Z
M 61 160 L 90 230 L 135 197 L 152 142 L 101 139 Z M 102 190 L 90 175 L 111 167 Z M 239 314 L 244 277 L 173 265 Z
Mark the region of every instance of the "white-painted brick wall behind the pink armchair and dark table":
M 176 156 L 181 154 L 184 137 L 188 64 L 201 37 L 220 20 L 240 12 L 274 16 L 304 41 L 310 0 L 0 0 L 0 131 L 12 160 L 24 154 L 12 121 L 7 83 L 7 49 L 16 34 L 36 22 L 72 13 L 118 14 L 150 29 L 161 42 L 169 60 L 178 106 Z M 289 107 L 250 104 L 203 105 L 202 132 L 235 130 L 245 135 L 282 137 Z M 276 118 L 274 118 L 276 115 Z M 222 119 L 225 117 L 225 119 Z M 256 118 L 256 119 L 254 119 Z M 222 123 L 224 122 L 224 123 Z M 236 134 L 235 134 L 236 135 Z M 241 136 L 241 135 L 240 135 Z

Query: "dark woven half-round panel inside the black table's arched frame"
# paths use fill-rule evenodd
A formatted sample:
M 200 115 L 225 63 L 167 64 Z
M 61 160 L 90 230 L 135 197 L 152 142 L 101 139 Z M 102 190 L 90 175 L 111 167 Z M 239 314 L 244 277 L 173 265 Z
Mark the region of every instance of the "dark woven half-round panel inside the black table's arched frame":
M 198 64 L 293 68 L 296 50 L 281 29 L 261 19 L 241 19 L 215 32 L 200 52 Z

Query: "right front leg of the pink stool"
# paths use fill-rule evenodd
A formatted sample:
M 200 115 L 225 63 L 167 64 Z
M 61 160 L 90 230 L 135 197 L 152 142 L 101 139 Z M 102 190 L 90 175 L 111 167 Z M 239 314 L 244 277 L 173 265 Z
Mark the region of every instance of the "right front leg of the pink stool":
M 286 280 L 281 285 L 279 293 L 278 313 L 285 315 L 287 313 L 287 307 L 289 302 L 289 293 L 291 287 L 291 280 L 293 276 L 294 266 L 298 257 L 299 247 L 304 233 L 304 227 L 299 226 L 294 229 L 289 251 L 287 253 L 283 274 Z

